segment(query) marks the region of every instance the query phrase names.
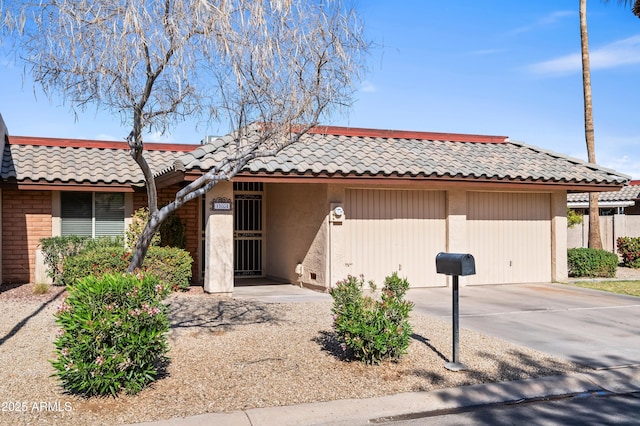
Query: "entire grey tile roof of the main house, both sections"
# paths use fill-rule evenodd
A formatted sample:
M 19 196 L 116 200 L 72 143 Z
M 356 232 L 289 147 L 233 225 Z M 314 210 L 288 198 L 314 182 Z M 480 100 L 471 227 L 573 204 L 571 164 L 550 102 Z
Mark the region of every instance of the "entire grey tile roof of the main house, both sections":
M 145 144 L 156 176 L 202 173 L 228 156 L 233 136 L 205 145 Z M 620 186 L 629 177 L 503 136 L 319 127 L 241 175 L 409 177 Z M 0 178 L 39 184 L 142 186 L 124 142 L 10 136 Z

